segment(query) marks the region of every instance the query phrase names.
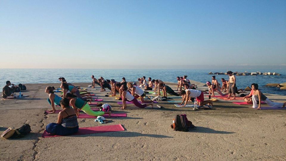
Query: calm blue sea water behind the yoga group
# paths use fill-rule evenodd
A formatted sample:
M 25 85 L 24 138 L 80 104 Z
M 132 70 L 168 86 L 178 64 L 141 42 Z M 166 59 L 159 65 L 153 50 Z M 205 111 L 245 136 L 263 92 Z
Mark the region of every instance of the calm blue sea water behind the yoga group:
M 91 75 L 95 78 L 102 76 L 105 79 L 115 79 L 121 81 L 122 77 L 126 81 L 137 81 L 137 78 L 145 76 L 152 79 L 161 79 L 166 82 L 176 83 L 177 76 L 187 75 L 188 79 L 203 82 L 211 81 L 212 75 L 209 72 L 226 72 L 227 69 L 0 69 L 0 86 L 6 85 L 6 81 L 13 84 L 25 83 L 59 83 L 59 77 L 64 77 L 70 83 L 92 82 Z M 245 70 L 232 70 L 233 72 L 244 72 Z M 257 75 L 257 76 L 236 76 L 237 88 L 244 89 L 251 83 L 257 83 L 263 93 L 286 95 L 286 90 L 277 87 L 267 87 L 267 83 L 286 82 L 286 71 L 283 69 L 251 69 L 247 72 L 278 72 L 281 75 Z M 229 79 L 228 75 L 216 75 L 216 79 Z M 29 89 L 29 86 L 27 87 Z

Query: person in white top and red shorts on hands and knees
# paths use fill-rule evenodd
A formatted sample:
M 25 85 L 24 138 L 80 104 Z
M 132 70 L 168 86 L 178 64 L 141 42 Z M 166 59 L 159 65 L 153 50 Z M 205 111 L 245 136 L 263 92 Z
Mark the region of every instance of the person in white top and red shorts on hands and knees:
M 199 91 L 196 89 L 188 89 L 188 86 L 189 86 L 189 84 L 185 84 L 186 91 L 180 92 L 180 95 L 184 95 L 184 99 L 183 99 L 182 103 L 179 105 L 182 105 L 184 103 L 184 101 L 186 101 L 182 107 L 186 106 L 186 104 L 188 103 L 188 100 L 189 100 L 188 98 L 193 97 L 193 98 L 197 99 L 199 106 L 204 106 L 207 103 L 209 103 L 209 105 L 211 105 L 210 107 L 213 106 L 212 100 L 204 100 L 202 91 Z

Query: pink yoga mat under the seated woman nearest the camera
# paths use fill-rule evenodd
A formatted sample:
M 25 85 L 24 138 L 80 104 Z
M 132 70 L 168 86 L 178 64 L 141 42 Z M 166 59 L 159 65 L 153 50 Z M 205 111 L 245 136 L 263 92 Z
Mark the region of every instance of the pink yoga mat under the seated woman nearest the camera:
M 115 132 L 115 131 L 124 131 L 124 128 L 118 125 L 107 125 L 107 126 L 95 126 L 95 127 L 85 127 L 79 128 L 77 133 L 72 135 L 83 135 L 83 134 L 96 134 L 96 133 L 103 133 L 103 132 Z M 45 130 L 42 134 L 43 138 L 46 137 L 60 137 L 61 135 L 49 134 Z

